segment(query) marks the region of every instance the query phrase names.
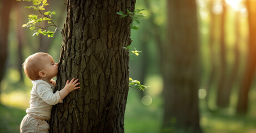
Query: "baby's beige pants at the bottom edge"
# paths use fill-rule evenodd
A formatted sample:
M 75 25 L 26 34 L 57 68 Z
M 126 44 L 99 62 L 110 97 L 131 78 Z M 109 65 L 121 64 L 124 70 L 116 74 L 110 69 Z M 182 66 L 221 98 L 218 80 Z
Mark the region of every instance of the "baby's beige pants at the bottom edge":
M 21 133 L 28 133 L 28 132 L 49 132 L 50 126 L 49 124 L 41 119 L 37 119 L 30 115 L 24 116 L 21 126 L 19 127 Z

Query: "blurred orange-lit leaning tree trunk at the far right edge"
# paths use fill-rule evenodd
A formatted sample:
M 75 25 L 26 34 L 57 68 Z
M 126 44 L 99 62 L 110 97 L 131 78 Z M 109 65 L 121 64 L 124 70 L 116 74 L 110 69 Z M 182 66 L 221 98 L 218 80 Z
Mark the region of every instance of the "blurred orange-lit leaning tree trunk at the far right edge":
M 256 66 L 256 1 L 246 1 L 248 9 L 248 23 L 249 23 L 249 44 L 248 44 L 248 57 L 247 64 L 239 88 L 237 114 L 246 114 L 248 111 L 248 93 L 254 79 L 255 66 Z

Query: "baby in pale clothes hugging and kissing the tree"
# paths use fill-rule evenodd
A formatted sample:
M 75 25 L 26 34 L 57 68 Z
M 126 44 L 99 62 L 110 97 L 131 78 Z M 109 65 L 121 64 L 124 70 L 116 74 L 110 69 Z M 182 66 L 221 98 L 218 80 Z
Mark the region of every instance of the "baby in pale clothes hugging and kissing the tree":
M 54 63 L 51 55 L 36 53 L 30 55 L 23 63 L 23 69 L 32 80 L 30 107 L 24 116 L 21 132 L 49 132 L 52 105 L 62 103 L 62 100 L 73 90 L 80 88 L 78 79 L 74 78 L 61 91 L 53 93 L 56 82 L 52 79 L 57 76 L 58 63 Z

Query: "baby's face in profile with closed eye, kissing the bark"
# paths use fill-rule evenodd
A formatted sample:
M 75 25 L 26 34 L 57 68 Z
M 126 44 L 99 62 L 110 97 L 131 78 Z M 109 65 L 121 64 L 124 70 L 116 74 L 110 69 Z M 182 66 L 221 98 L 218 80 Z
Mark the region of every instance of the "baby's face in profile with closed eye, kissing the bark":
M 51 55 L 48 55 L 43 58 L 42 64 L 44 65 L 43 70 L 46 73 L 49 79 L 57 76 L 58 73 L 58 63 L 54 63 L 54 60 Z

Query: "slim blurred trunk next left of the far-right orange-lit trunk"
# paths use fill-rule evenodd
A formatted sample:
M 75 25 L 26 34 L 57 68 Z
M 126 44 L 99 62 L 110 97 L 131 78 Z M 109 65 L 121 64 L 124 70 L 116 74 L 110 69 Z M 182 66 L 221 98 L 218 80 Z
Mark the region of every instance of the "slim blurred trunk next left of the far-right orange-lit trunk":
M 225 1 L 222 0 L 222 16 L 220 18 L 220 68 L 219 68 L 219 83 L 217 90 L 217 106 L 220 108 L 228 107 L 227 103 L 227 93 L 229 88 L 227 88 L 227 63 L 226 63 L 226 48 L 225 48 L 225 17 L 226 17 L 226 6 Z

